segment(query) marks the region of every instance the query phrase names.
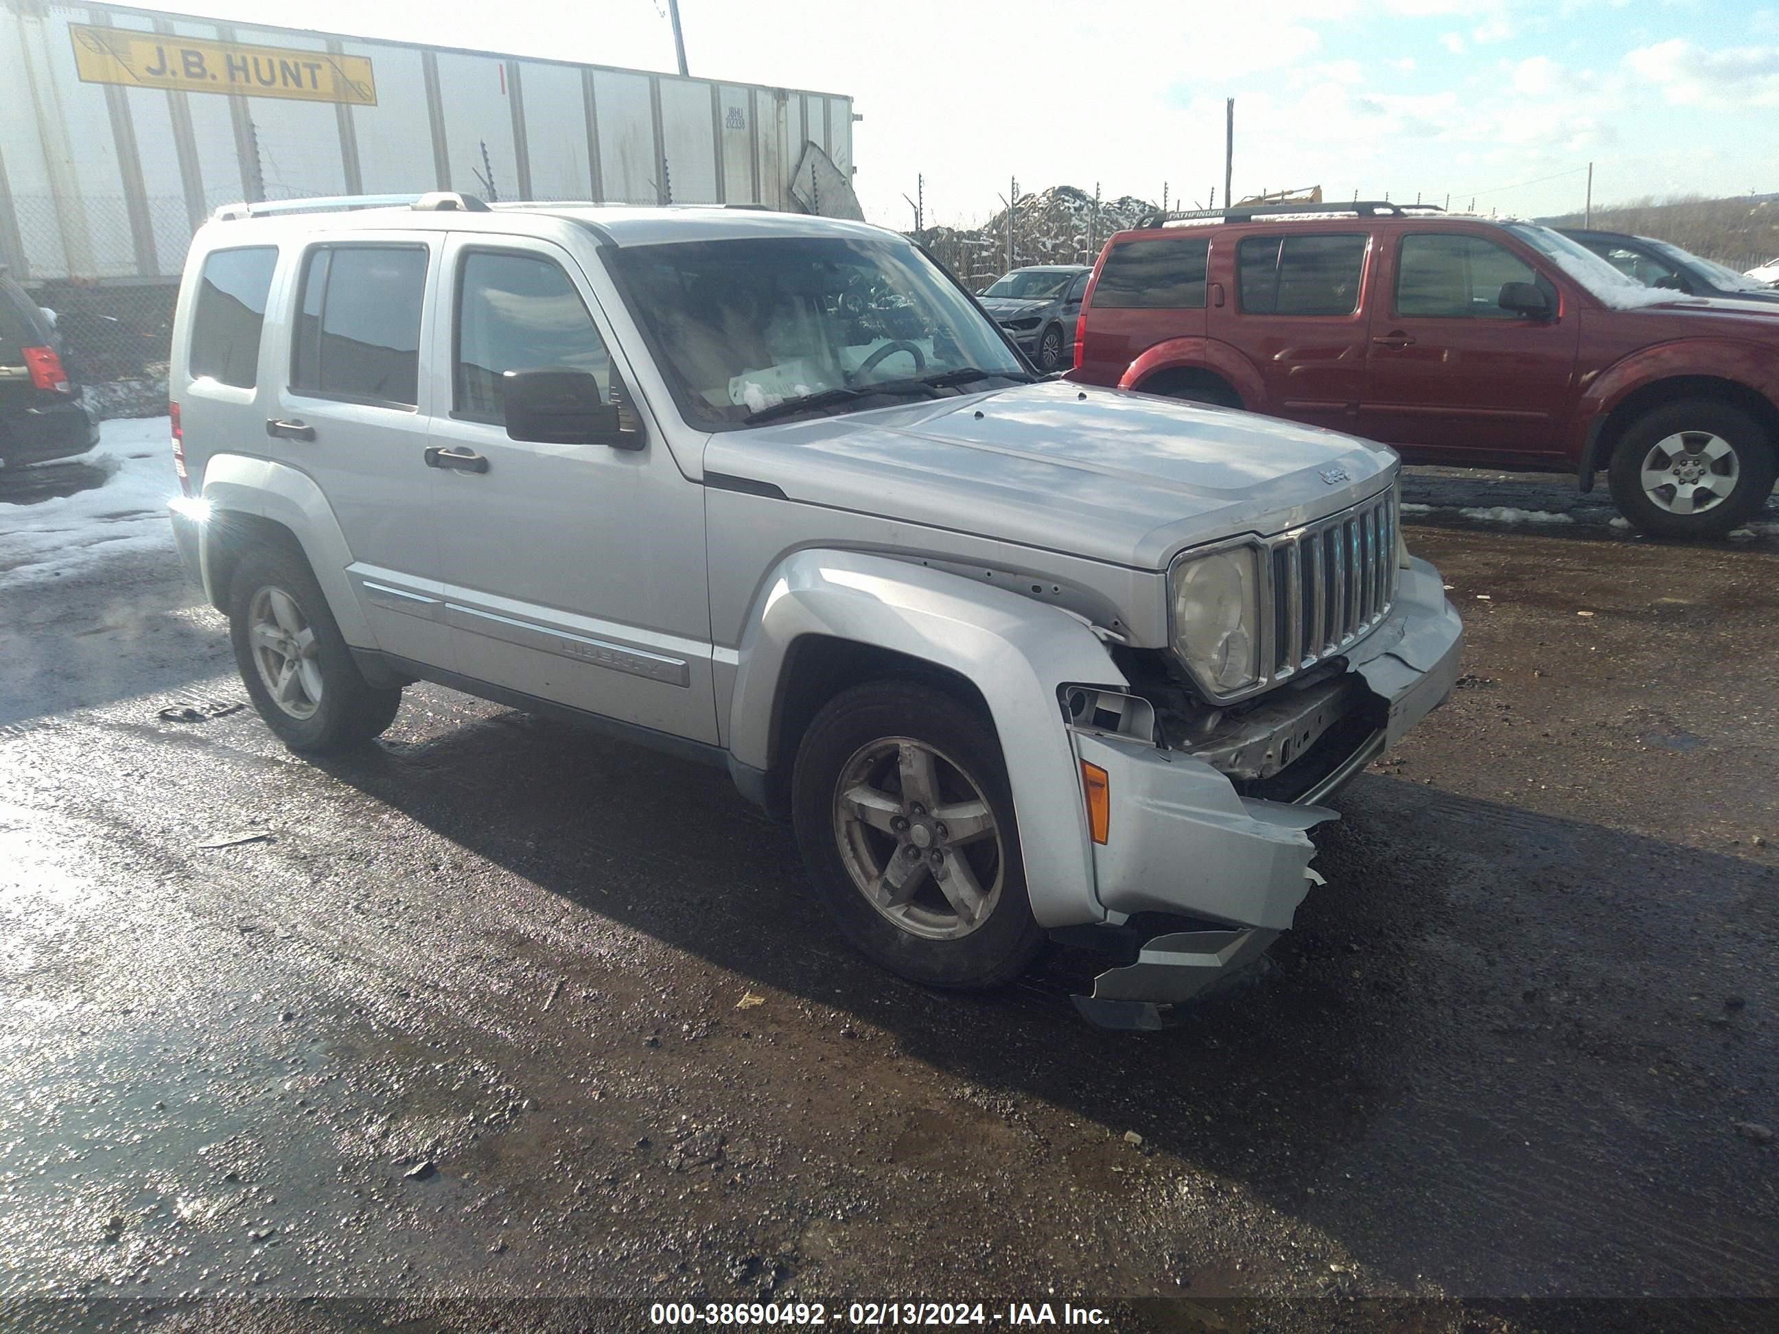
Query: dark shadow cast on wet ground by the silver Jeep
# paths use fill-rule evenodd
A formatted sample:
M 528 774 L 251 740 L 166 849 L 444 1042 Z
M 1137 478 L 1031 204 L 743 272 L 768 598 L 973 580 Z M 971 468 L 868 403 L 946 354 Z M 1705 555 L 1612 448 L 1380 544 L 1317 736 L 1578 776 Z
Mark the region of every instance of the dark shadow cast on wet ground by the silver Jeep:
M 993 996 L 861 966 L 790 832 L 717 770 L 521 713 L 327 768 L 993 1099 L 1135 1129 L 1402 1290 L 1779 1293 L 1761 1151 L 1727 1128 L 1731 1090 L 1779 1087 L 1775 1044 L 1717 1025 L 1729 991 L 1779 1003 L 1772 868 L 1368 774 L 1318 831 L 1329 884 L 1270 973 L 1139 1037 L 1075 1016 L 1073 952 Z

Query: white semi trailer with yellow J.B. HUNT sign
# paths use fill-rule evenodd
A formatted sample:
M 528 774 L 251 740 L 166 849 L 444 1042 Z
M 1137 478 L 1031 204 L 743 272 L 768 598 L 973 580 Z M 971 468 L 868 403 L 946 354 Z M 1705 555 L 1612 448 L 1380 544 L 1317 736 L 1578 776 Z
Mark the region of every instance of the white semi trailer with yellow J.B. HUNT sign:
M 219 205 L 304 196 L 856 217 L 852 119 L 829 92 L 0 0 L 0 265 L 165 283 Z

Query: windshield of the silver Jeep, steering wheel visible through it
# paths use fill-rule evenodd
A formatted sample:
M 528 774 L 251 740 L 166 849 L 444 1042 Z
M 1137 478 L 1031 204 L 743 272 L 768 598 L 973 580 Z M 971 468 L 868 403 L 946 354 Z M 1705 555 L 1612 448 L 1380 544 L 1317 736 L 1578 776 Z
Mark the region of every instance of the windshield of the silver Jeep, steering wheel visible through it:
M 970 297 L 906 242 L 674 242 L 619 249 L 614 263 L 681 411 L 710 430 L 836 390 L 882 386 L 834 395 L 881 407 L 898 386 L 932 397 L 918 381 L 971 368 L 1030 379 Z

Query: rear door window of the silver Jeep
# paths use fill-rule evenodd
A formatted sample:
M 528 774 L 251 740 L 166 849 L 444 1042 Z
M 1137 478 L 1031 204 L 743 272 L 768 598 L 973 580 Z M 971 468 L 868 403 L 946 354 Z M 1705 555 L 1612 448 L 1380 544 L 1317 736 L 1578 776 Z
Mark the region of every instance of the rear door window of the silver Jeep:
M 416 406 L 425 288 L 425 245 L 310 251 L 290 388 L 358 404 Z

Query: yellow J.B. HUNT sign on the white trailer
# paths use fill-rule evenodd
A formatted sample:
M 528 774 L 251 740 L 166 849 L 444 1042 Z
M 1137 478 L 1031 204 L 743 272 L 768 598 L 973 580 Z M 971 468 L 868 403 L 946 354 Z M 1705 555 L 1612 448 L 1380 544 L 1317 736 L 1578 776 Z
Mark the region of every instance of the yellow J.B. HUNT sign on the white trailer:
M 75 71 L 87 84 L 377 105 L 377 84 L 363 55 L 242 46 L 89 23 L 69 23 L 68 36 L 75 43 Z

